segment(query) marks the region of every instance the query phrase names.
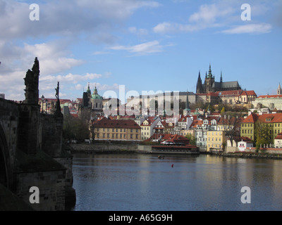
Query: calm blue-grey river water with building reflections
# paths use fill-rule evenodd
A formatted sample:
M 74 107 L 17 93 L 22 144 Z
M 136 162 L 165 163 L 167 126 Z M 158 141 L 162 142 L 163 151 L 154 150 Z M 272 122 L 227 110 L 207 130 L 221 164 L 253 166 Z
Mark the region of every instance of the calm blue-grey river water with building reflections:
M 78 153 L 73 188 L 75 211 L 280 211 L 282 160 Z

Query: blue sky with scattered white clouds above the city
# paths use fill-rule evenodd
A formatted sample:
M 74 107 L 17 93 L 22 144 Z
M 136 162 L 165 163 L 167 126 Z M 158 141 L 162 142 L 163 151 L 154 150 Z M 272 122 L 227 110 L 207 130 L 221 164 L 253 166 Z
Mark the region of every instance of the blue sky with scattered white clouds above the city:
M 209 64 L 216 82 L 222 72 L 257 96 L 282 84 L 281 0 L 0 0 L 0 30 L 0 93 L 9 100 L 25 99 L 35 57 L 45 98 L 55 98 L 57 82 L 70 100 L 88 84 L 121 99 L 195 93 Z

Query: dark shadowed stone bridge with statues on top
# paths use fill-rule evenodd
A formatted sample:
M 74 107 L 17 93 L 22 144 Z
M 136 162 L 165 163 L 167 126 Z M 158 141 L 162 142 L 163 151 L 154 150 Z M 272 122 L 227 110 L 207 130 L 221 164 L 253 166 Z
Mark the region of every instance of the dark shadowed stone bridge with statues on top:
M 71 210 L 72 156 L 63 148 L 63 115 L 40 113 L 39 61 L 25 77 L 25 101 L 0 98 L 0 210 Z M 39 203 L 31 203 L 31 187 Z

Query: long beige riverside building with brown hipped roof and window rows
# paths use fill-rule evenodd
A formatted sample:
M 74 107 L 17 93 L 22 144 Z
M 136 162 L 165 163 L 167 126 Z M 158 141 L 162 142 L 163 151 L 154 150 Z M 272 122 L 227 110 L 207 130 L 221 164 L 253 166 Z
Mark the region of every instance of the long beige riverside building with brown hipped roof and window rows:
M 109 120 L 105 117 L 94 122 L 97 141 L 141 141 L 141 127 L 133 120 Z

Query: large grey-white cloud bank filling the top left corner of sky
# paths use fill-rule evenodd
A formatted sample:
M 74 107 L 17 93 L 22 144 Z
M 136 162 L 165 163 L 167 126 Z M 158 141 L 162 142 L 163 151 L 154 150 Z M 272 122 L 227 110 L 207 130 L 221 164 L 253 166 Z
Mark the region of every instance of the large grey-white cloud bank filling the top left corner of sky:
M 0 0 L 1 39 L 77 36 L 80 32 L 97 32 L 95 41 L 112 41 L 116 24 L 121 24 L 139 8 L 161 6 L 157 1 L 137 0 L 49 0 L 39 3 L 39 21 L 31 21 L 30 4 Z M 97 36 L 96 36 L 97 37 Z M 104 39 L 106 37 L 106 39 Z

